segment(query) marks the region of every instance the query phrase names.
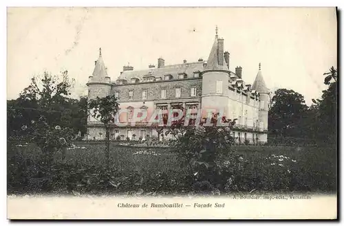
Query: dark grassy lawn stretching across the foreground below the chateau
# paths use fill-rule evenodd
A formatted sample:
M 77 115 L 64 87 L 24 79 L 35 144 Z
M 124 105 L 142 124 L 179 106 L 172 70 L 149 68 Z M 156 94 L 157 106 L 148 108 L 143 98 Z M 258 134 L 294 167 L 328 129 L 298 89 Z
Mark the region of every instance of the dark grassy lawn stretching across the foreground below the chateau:
M 41 152 L 33 144 L 8 144 L 8 192 L 125 192 L 187 190 L 189 173 L 169 148 L 127 147 L 111 144 L 111 177 L 103 178 L 105 146 L 76 142 L 66 162 L 56 155 L 53 172 L 47 174 Z M 233 146 L 245 159 L 235 175 L 239 191 L 269 192 L 336 190 L 336 150 L 316 147 Z M 226 160 L 226 159 L 224 159 Z M 55 170 L 55 171 L 54 171 Z M 107 184 L 104 185 L 104 181 Z M 51 183 L 50 183 L 51 182 Z M 46 185 L 49 183 L 49 185 Z

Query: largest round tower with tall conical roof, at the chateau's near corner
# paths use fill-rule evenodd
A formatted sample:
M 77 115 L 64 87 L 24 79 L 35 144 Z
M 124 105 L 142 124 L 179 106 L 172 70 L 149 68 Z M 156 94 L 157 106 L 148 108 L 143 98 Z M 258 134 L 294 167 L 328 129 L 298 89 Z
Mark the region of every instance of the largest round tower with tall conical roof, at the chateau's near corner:
M 216 36 L 208 61 L 202 71 L 202 118 L 207 112 L 222 112 L 228 116 L 228 75 L 224 58 L 224 39 Z

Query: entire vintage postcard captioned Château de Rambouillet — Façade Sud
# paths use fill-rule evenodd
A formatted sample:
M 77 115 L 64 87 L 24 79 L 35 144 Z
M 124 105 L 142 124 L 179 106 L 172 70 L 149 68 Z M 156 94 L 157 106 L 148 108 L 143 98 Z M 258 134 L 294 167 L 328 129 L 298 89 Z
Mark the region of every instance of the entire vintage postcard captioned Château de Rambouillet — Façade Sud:
M 337 13 L 8 8 L 8 219 L 336 219 Z

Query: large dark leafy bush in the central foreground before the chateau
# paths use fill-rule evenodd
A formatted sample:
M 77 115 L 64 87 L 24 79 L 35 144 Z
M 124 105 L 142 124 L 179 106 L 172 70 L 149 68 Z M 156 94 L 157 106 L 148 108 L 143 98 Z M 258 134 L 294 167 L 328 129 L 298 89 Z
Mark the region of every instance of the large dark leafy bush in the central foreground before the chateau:
M 223 159 L 232 163 L 228 168 L 235 167 L 237 155 L 231 148 L 234 144 L 230 131 L 232 126 L 230 122 L 228 127 L 188 126 L 182 128 L 180 133 L 173 131 L 173 135 L 178 134 L 172 142 L 173 150 L 181 163 L 189 168 L 190 182 L 196 190 L 218 189 L 222 186 L 224 177 L 228 176 L 222 174 Z

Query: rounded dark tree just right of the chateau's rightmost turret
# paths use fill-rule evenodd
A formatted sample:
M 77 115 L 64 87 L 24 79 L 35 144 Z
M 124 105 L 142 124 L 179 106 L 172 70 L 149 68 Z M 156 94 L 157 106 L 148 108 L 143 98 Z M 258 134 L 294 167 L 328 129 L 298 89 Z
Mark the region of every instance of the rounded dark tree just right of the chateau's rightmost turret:
M 290 89 L 277 89 L 269 111 L 269 131 L 283 137 L 300 135 L 299 125 L 307 109 L 303 95 Z

